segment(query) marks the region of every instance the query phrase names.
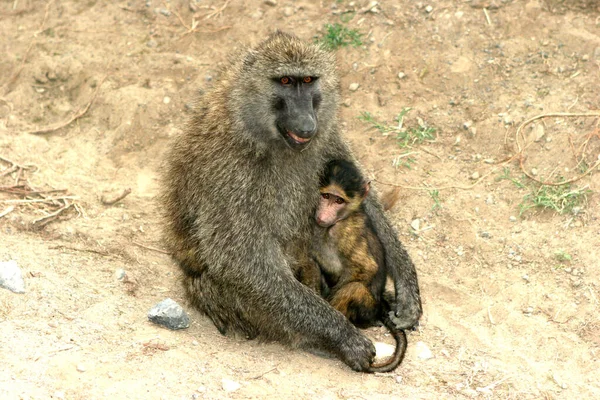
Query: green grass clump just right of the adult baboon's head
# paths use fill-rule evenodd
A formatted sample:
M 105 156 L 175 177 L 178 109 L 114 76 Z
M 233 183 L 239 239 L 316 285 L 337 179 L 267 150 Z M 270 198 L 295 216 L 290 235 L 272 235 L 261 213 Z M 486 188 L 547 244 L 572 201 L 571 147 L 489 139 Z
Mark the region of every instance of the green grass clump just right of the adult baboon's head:
M 358 119 L 370 124 L 383 135 L 395 135 L 400 147 L 409 147 L 426 141 L 435 141 L 435 128 L 427 126 L 421 119 L 418 120 L 417 127 L 404 127 L 404 117 L 410 110 L 410 107 L 405 107 L 402 109 L 402 111 L 400 111 L 398 116 L 395 118 L 397 122 L 396 126 L 385 125 L 378 122 L 373 115 L 367 111 L 363 111 Z

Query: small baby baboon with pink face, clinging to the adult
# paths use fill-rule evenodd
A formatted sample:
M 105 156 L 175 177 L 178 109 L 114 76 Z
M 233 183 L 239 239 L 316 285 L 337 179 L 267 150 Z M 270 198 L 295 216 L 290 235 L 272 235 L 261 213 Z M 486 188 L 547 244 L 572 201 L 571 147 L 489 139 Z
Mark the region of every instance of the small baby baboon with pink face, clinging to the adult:
M 315 235 L 312 254 L 330 287 L 329 303 L 354 325 L 367 328 L 381 321 L 394 336 L 396 350 L 391 359 L 366 370 L 388 372 L 402 362 L 407 340 L 388 315 L 390 306 L 384 299 L 388 268 L 363 207 L 369 189 L 352 163 L 334 160 L 327 164 L 315 215 L 321 229 Z

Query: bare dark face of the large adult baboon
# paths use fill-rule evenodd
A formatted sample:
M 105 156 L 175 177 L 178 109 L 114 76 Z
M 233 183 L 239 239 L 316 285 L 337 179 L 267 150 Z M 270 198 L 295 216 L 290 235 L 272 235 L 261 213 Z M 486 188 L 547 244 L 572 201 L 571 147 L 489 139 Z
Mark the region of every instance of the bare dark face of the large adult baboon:
M 274 81 L 275 124 L 285 142 L 302 150 L 317 133 L 317 109 L 321 102 L 315 76 L 282 76 Z

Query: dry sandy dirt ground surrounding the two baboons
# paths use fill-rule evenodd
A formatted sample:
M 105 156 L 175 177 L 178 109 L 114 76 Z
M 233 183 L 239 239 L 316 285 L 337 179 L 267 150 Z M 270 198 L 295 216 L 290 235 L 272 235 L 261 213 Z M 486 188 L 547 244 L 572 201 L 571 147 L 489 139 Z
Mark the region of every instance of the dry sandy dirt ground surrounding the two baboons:
M 363 0 L 273 3 L 0 1 L 0 156 L 18 164 L 0 161 L 0 214 L 14 207 L 0 218 L 0 261 L 15 260 L 26 284 L 0 289 L 0 398 L 600 398 L 600 172 L 586 169 L 598 119 L 539 119 L 515 142 L 528 118 L 598 113 L 599 2 L 389 0 L 366 13 Z M 236 47 L 275 28 L 312 40 L 342 18 L 364 34 L 338 51 L 344 134 L 374 184 L 404 187 L 391 218 L 425 309 L 407 359 L 370 376 L 222 337 L 189 307 L 187 330 L 149 323 L 158 301 L 185 304 L 177 267 L 156 251 L 155 199 L 195 92 Z M 393 124 L 404 107 L 407 126 L 437 129 L 434 142 L 403 148 L 357 118 Z M 523 169 L 509 159 L 518 146 Z M 554 181 L 588 171 L 572 186 L 590 190 L 587 202 L 519 215 L 532 170 Z M 60 205 L 6 202 L 24 198 L 15 183 L 66 189 L 51 195 L 77 206 L 34 223 Z

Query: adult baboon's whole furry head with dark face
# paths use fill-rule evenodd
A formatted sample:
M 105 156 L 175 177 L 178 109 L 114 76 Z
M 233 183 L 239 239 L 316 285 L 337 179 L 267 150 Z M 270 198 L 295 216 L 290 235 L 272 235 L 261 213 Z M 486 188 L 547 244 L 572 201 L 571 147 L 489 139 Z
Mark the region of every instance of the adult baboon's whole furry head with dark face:
M 277 32 L 233 72 L 230 110 L 254 143 L 302 151 L 335 126 L 335 56 L 321 46 Z

